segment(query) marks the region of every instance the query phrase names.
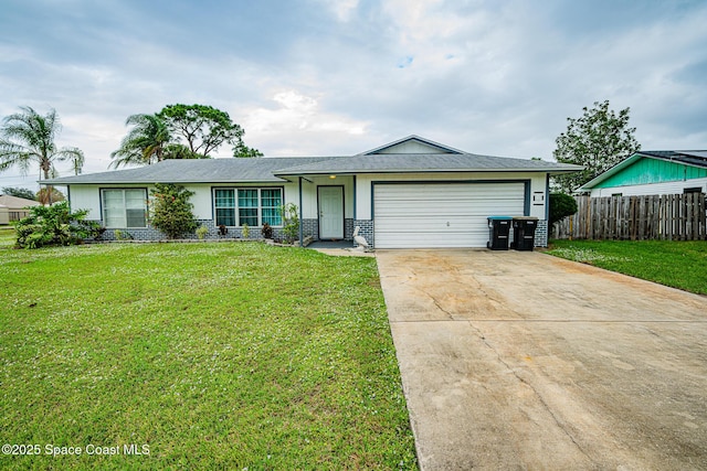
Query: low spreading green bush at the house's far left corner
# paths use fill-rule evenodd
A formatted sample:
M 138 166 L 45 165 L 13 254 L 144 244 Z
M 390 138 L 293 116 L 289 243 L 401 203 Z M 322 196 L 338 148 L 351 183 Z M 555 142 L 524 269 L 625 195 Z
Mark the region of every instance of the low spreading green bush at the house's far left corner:
M 39 248 L 49 245 L 80 244 L 88 237 L 98 237 L 102 227 L 93 221 L 85 221 L 87 210 L 71 212 L 68 202 L 52 206 L 33 206 L 30 215 L 14 223 L 17 247 Z

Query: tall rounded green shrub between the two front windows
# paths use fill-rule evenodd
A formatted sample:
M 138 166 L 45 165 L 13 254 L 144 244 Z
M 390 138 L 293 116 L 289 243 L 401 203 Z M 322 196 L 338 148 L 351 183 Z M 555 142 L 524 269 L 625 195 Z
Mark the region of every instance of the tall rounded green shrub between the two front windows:
M 156 183 L 150 190 L 152 204 L 150 221 L 168 238 L 178 238 L 182 234 L 192 234 L 199 224 L 193 213 L 193 204 L 189 197 L 194 193 L 181 185 Z

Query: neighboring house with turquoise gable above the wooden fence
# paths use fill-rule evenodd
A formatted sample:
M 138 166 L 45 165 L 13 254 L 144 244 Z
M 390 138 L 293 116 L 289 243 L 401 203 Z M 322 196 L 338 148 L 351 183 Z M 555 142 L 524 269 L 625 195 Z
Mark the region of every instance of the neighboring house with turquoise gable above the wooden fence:
M 707 193 L 707 150 L 640 151 L 578 192 L 591 196 Z

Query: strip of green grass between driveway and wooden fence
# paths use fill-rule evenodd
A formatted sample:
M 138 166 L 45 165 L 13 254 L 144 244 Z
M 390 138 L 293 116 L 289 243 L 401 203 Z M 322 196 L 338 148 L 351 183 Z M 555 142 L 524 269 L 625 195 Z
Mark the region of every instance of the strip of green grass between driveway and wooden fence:
M 707 295 L 705 240 L 553 240 L 548 254 Z

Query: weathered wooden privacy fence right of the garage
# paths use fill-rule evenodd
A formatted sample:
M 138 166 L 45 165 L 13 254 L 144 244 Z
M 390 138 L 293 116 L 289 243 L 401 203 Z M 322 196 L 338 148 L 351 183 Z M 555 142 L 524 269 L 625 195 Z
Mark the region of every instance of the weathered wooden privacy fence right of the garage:
M 631 240 L 707 238 L 705 193 L 574 199 L 577 213 L 555 225 L 553 237 Z

